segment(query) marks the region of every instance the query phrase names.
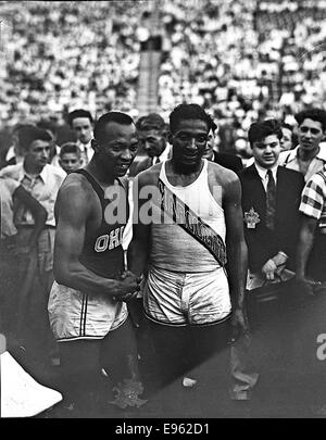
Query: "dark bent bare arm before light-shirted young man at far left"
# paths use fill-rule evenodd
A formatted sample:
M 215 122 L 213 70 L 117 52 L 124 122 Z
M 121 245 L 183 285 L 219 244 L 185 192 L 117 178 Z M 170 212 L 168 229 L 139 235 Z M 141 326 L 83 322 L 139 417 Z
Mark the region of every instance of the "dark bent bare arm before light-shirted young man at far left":
M 35 226 L 29 239 L 29 247 L 33 248 L 37 242 L 41 230 L 45 228 L 48 213 L 46 209 L 33 196 L 30 196 L 29 192 L 26 191 L 26 189 L 22 185 L 18 186 L 18 188 L 15 190 L 14 197 L 16 197 L 28 208 L 34 217 Z

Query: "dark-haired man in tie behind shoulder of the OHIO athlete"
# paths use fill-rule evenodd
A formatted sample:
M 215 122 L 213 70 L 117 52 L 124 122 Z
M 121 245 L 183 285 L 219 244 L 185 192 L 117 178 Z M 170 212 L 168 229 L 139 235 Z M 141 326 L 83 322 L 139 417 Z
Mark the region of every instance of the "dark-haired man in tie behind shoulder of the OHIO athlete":
M 76 143 L 82 152 L 82 166 L 85 166 L 93 155 L 93 149 L 91 148 L 93 118 L 87 110 L 77 109 L 68 114 L 68 124 L 76 134 Z

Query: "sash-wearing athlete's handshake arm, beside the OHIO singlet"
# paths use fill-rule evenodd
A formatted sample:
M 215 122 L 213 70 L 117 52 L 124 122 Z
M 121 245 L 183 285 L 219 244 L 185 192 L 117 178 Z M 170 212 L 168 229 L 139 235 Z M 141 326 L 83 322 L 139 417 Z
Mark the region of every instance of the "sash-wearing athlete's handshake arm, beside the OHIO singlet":
M 146 274 L 148 268 L 149 247 L 150 247 L 150 225 L 145 224 L 141 215 L 149 199 L 140 199 L 139 193 L 149 180 L 139 175 L 133 185 L 134 218 L 133 218 L 133 240 L 128 249 L 128 262 L 130 269 L 137 276 Z

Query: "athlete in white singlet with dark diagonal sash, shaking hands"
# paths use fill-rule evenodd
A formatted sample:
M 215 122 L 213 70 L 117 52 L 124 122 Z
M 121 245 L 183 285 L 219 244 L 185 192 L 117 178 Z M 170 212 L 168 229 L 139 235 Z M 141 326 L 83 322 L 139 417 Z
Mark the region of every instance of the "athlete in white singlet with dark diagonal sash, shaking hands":
M 161 386 L 225 347 L 230 322 L 235 334 L 247 330 L 240 183 L 202 159 L 211 125 L 199 105 L 177 106 L 170 116 L 172 159 L 134 181 L 130 267 L 148 272 L 143 311 Z M 151 199 L 151 188 L 161 199 Z

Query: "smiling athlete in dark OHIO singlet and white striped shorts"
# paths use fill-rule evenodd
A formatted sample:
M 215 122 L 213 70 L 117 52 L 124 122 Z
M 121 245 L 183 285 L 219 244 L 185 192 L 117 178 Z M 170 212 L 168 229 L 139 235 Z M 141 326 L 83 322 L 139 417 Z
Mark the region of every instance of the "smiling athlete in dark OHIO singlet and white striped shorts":
M 95 126 L 91 161 L 66 177 L 57 200 L 49 317 L 60 342 L 64 397 L 79 403 L 88 416 L 105 387 L 102 367 L 112 386 L 126 387 L 137 374 L 125 302 L 137 291 L 137 277 L 124 273 L 122 248 L 128 219 L 123 176 L 137 147 L 133 120 L 120 112 L 104 114 Z M 118 391 L 124 395 L 127 390 Z M 127 404 L 136 404 L 137 397 Z

